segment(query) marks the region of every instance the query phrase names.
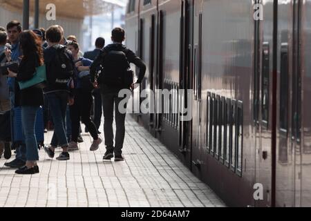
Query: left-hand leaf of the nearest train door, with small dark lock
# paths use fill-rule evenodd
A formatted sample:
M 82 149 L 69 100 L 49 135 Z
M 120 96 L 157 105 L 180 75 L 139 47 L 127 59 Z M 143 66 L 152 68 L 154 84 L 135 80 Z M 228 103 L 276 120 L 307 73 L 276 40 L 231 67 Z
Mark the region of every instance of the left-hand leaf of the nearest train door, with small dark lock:
M 274 194 L 273 146 L 274 130 L 272 91 L 274 75 L 274 1 L 254 0 L 255 9 L 263 7 L 263 18 L 254 20 L 254 146 L 256 147 L 256 184 L 262 186 L 262 197 L 254 199 L 255 206 L 272 206 Z M 272 34 L 273 33 L 273 34 Z M 255 184 L 254 183 L 254 184 Z

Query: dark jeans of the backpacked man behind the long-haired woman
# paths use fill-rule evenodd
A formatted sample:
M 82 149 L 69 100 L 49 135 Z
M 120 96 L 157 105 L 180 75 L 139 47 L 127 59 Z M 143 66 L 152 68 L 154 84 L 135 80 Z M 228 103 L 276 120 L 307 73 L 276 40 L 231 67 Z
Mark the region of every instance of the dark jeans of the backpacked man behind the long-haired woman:
M 68 146 L 66 137 L 66 110 L 68 103 L 68 93 L 57 92 L 46 94 L 48 105 L 50 107 L 50 114 L 54 122 L 54 133 L 51 145 L 54 147 Z

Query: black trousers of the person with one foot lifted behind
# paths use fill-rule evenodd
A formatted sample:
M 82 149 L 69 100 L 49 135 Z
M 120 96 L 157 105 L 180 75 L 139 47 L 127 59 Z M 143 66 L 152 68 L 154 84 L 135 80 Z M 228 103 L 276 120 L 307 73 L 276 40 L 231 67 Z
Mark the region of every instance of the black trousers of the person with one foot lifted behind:
M 75 103 L 70 106 L 70 119 L 72 135 L 71 141 L 77 142 L 77 137 L 79 136 L 80 130 L 80 119 L 82 123 L 88 128 L 91 136 L 94 140 L 98 139 L 97 128 L 93 121 L 91 120 L 91 106 L 93 98 L 91 93 L 86 93 L 80 89 L 77 89 L 75 95 Z

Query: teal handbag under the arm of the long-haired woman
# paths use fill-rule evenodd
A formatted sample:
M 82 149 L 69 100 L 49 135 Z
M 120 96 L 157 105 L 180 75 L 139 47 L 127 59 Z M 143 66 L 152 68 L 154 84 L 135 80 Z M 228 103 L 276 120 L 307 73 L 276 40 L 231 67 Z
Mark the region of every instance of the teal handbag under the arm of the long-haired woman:
M 26 88 L 45 88 L 46 87 L 46 66 L 39 66 L 32 79 L 28 81 L 19 82 L 19 88 L 24 90 Z

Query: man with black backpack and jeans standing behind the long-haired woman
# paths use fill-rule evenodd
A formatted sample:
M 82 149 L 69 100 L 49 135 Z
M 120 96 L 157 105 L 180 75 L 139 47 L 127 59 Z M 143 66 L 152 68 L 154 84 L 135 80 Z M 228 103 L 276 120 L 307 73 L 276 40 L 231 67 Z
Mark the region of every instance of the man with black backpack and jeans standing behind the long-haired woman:
M 61 146 L 63 152 L 57 160 L 70 160 L 68 153 L 68 141 L 66 137 L 66 109 L 67 104 L 72 105 L 73 77 L 75 64 L 71 52 L 59 42 L 62 40 L 62 31 L 58 26 L 51 26 L 46 30 L 46 40 L 49 47 L 44 50 L 46 64 L 46 77 L 48 86 L 44 88 L 44 94 L 48 99 L 50 113 L 54 122 L 54 134 L 50 147 L 44 150 L 50 158 L 55 155 L 55 148 Z

